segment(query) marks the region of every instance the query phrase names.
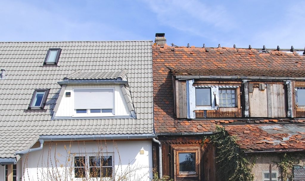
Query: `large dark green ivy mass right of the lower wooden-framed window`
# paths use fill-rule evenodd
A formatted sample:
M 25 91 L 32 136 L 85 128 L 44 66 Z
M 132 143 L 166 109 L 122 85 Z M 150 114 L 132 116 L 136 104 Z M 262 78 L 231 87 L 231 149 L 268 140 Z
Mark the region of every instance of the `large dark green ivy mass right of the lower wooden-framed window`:
M 253 163 L 245 157 L 236 144 L 237 137 L 229 135 L 223 127 L 217 127 L 218 134 L 206 136 L 203 142 L 216 146 L 218 177 L 224 181 L 253 181 Z

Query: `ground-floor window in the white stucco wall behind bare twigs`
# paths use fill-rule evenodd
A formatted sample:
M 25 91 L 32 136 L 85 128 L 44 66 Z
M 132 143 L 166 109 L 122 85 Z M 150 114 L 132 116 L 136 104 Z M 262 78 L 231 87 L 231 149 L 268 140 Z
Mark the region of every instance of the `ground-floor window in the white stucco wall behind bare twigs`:
M 76 156 L 74 157 L 75 178 L 102 178 L 113 175 L 113 156 Z

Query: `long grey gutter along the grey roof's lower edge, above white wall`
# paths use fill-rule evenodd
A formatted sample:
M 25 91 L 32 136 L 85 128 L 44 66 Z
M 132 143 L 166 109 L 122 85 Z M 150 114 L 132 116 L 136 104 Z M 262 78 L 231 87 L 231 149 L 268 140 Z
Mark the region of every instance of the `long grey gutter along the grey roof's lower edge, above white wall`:
M 129 140 L 129 139 L 152 139 L 157 136 L 154 134 L 119 134 L 119 135 L 51 135 L 40 136 L 39 139 L 44 141 L 79 141 L 79 140 Z

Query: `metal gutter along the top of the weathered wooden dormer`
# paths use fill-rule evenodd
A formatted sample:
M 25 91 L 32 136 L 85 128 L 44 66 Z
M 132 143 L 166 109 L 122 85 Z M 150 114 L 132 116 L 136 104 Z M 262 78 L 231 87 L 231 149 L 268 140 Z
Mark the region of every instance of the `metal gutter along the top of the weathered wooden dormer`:
M 175 76 L 178 80 L 188 79 L 239 79 L 239 80 L 305 80 L 305 77 L 260 77 L 260 76 Z

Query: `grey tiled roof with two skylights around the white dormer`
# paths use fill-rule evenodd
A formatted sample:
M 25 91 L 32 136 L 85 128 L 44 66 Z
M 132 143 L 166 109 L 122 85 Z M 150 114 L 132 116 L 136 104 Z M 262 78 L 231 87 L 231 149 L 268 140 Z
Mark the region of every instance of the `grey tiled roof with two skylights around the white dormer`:
M 153 133 L 152 42 L 0 42 L 0 158 L 13 158 L 30 148 L 41 135 Z M 61 48 L 57 66 L 43 66 L 47 50 Z M 108 70 L 125 76 L 137 119 L 51 120 L 64 77 L 75 72 Z M 123 73 L 122 73 L 123 71 Z M 81 74 L 80 74 L 81 75 Z M 84 78 L 71 76 L 70 78 Z M 28 111 L 34 89 L 50 89 L 45 110 Z

